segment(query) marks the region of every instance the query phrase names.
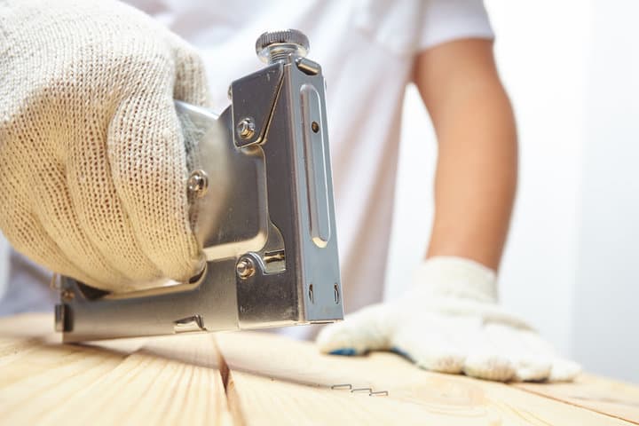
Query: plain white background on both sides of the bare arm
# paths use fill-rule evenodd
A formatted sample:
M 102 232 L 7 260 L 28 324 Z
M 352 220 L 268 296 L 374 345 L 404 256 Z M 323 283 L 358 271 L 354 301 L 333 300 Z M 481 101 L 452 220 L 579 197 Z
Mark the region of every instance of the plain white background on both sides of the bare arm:
M 639 383 L 639 2 L 485 4 L 520 138 L 501 300 L 588 371 Z M 415 126 L 400 149 L 390 297 L 432 217 L 437 146 L 410 88 L 403 135 Z

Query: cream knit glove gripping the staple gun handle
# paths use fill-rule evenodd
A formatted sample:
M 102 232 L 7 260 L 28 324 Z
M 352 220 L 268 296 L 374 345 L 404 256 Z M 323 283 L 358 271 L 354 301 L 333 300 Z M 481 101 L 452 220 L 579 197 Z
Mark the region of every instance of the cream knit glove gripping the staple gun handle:
M 0 227 L 55 272 L 110 290 L 201 263 L 173 99 L 201 60 L 113 0 L 0 0 Z

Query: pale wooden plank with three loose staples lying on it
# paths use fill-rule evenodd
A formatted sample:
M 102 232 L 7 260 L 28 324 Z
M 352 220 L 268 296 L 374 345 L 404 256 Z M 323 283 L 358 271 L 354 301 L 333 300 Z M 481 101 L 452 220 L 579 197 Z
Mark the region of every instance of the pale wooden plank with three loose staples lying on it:
M 227 396 L 243 422 L 261 424 L 580 424 L 627 422 L 502 383 L 438 375 L 390 353 L 320 355 L 312 343 L 276 335 L 219 334 Z M 388 390 L 388 397 L 331 385 Z

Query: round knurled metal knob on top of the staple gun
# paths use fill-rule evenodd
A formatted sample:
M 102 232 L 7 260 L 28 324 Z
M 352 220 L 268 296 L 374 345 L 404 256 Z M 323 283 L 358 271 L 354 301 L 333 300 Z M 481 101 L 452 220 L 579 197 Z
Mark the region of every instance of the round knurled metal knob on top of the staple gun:
M 267 31 L 257 37 L 257 57 L 268 64 L 286 61 L 291 54 L 304 57 L 310 49 L 308 37 L 296 29 Z

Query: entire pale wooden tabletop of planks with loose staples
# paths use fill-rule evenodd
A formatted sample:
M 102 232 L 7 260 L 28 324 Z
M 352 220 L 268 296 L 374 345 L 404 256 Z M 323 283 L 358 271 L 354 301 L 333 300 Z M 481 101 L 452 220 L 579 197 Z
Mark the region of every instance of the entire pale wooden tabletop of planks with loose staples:
M 639 423 L 639 388 L 592 375 L 492 383 L 247 332 L 65 345 L 52 322 L 0 319 L 2 425 Z M 343 383 L 389 394 L 331 389 Z

